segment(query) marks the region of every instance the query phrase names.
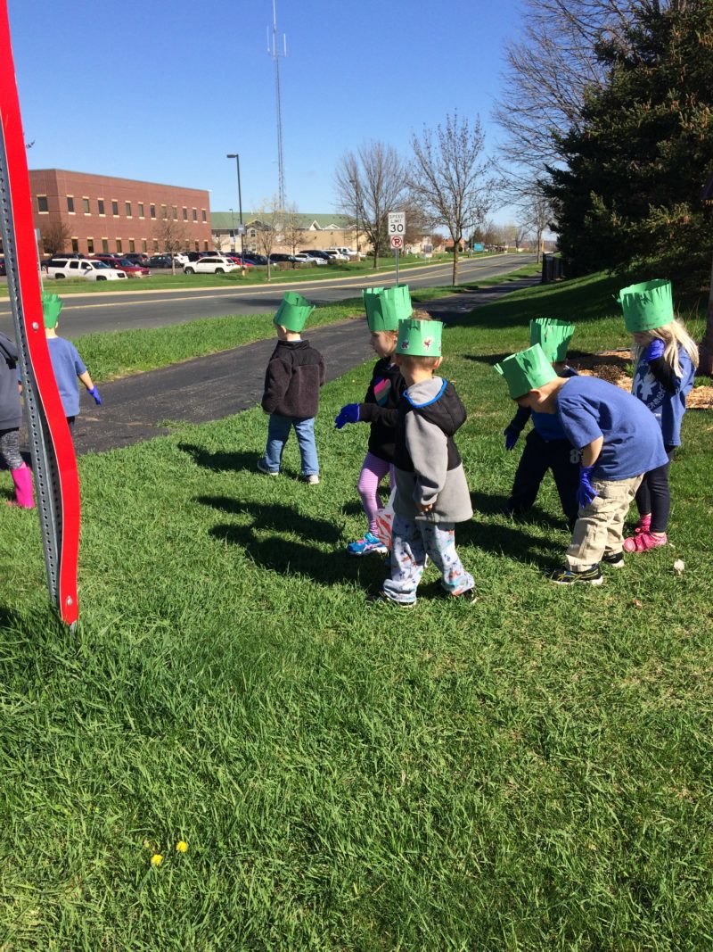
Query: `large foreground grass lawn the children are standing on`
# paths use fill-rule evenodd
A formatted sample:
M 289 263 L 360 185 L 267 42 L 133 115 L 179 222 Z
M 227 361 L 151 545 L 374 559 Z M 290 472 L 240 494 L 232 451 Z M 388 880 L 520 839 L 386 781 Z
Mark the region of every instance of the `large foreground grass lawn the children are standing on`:
M 433 567 L 414 611 L 365 605 L 367 431 L 332 421 L 369 364 L 324 388 L 319 486 L 294 441 L 255 472 L 258 409 L 83 457 L 75 632 L 36 517 L 3 513 L 0 949 L 711 948 L 711 414 L 684 419 L 675 549 L 549 585 L 568 536 L 549 480 L 499 514 L 490 365 L 542 313 L 575 350 L 626 335 L 607 279 L 515 293 L 444 333 L 477 605 Z

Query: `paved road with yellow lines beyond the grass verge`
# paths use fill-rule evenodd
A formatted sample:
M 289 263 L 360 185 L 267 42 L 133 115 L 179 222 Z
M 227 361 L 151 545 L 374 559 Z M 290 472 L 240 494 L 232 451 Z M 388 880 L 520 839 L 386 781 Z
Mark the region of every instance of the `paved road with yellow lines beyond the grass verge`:
M 534 260 L 529 254 L 503 254 L 492 258 L 463 259 L 460 279 L 464 282 L 490 278 L 520 268 Z M 399 278 L 411 288 L 432 288 L 449 284 L 452 266 L 427 265 L 401 270 Z M 114 291 L 71 294 L 62 311 L 62 334 L 79 337 L 97 330 L 124 330 L 132 327 L 166 327 L 202 317 L 224 314 L 253 314 L 276 310 L 285 290 L 294 288 L 315 304 L 328 304 L 347 297 L 358 297 L 361 288 L 378 287 L 394 280 L 394 272 L 369 277 L 322 279 L 252 285 L 248 288 L 199 288 L 190 290 L 150 290 L 150 278 L 138 291 Z M 47 282 L 48 288 L 61 291 L 61 282 Z M 0 302 L 0 330 L 14 337 L 10 303 Z

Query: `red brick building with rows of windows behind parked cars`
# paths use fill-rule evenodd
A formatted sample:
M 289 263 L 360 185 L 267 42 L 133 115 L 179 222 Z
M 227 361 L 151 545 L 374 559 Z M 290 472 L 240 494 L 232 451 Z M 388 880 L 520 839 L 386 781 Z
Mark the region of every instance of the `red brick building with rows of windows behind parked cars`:
M 152 254 L 164 250 L 169 236 L 187 250 L 213 249 L 210 196 L 202 188 L 65 169 L 30 170 L 29 188 L 35 228 L 43 239 L 67 228 L 64 251 Z

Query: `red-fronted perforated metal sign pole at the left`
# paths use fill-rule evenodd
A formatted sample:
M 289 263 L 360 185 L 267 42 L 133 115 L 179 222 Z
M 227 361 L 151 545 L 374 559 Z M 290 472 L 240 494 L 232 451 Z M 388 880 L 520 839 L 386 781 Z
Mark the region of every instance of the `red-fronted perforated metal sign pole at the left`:
M 20 351 L 49 597 L 59 608 L 62 620 L 74 625 L 79 615 L 79 478 L 45 339 L 27 150 L 7 0 L 0 0 L 0 63 L 0 228 L 10 307 Z

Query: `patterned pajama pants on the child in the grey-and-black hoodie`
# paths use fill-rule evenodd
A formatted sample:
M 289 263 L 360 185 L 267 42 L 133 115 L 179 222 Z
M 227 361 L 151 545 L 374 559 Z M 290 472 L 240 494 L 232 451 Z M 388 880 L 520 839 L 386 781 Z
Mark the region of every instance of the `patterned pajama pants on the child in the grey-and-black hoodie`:
M 384 582 L 384 594 L 395 602 L 411 604 L 426 567 L 426 556 L 441 573 L 441 585 L 450 595 L 460 595 L 475 585 L 455 551 L 453 523 L 409 522 L 394 517 L 391 579 Z

